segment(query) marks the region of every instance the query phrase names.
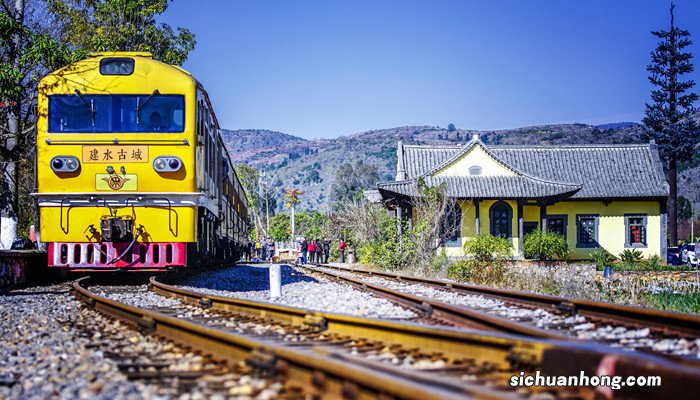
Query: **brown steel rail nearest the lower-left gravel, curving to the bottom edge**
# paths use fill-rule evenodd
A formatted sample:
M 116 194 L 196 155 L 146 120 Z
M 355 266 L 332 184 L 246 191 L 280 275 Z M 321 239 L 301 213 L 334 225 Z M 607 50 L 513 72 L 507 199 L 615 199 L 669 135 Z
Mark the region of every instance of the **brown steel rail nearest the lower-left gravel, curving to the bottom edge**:
M 88 306 L 149 333 L 162 336 L 230 364 L 246 362 L 272 377 L 286 379 L 314 398 L 480 399 L 517 398 L 515 393 L 470 388 L 444 378 L 353 363 L 350 357 L 279 346 L 268 341 L 198 325 L 132 307 L 85 288 L 89 277 L 73 282 L 73 294 Z M 700 377 L 700 374 L 699 374 Z

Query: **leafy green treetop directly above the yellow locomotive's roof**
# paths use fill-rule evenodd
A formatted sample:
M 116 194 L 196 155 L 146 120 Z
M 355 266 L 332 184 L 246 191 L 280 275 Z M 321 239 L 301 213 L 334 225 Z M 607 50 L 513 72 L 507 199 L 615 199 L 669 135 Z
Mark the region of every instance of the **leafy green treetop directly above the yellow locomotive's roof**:
M 60 38 L 87 51 L 149 51 L 164 63 L 182 65 L 196 44 L 185 28 L 157 23 L 168 0 L 48 0 L 62 22 Z

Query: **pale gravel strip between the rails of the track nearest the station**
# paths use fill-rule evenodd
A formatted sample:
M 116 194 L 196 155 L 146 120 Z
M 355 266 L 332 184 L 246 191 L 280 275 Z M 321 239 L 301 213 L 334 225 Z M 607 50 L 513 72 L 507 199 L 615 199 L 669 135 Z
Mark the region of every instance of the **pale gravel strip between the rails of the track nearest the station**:
M 581 315 L 567 317 L 541 308 L 533 309 L 509 305 L 500 300 L 481 295 L 454 293 L 429 285 L 398 282 L 391 279 L 353 274 L 334 269 L 321 269 L 337 275 L 359 279 L 368 284 L 384 286 L 404 293 L 483 311 L 490 315 L 523 322 L 538 328 L 557 330 L 582 340 L 593 340 L 612 347 L 648 348 L 663 353 L 684 356 L 692 355 L 700 358 L 700 339 L 658 338 L 651 336 L 649 328 L 630 329 L 623 326 L 599 325 L 588 321 Z

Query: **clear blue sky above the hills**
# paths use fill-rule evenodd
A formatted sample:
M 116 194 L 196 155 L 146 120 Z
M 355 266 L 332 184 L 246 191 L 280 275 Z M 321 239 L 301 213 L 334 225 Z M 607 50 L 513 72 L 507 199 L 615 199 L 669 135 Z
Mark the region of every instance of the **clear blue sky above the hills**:
M 221 126 L 304 138 L 640 121 L 669 2 L 175 0 Z M 700 81 L 700 1 L 676 2 Z M 700 88 L 695 88 L 700 92 Z

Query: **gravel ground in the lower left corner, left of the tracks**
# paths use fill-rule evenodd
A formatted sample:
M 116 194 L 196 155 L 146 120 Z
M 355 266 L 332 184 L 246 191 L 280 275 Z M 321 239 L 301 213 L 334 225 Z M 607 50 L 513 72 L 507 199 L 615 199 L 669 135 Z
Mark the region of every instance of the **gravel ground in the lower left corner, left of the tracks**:
M 126 380 L 73 326 L 81 310 L 67 285 L 0 296 L 0 398 L 140 399 L 154 390 Z

